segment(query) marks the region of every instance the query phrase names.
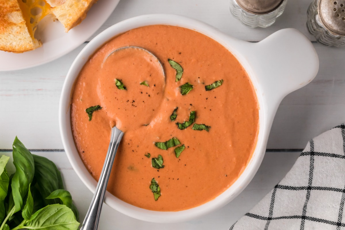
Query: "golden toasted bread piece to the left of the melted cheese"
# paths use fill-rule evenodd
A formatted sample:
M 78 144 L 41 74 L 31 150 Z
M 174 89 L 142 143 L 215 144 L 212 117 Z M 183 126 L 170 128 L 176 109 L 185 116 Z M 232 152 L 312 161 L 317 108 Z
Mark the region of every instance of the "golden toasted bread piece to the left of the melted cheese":
M 21 53 L 41 42 L 31 36 L 17 0 L 0 1 L 0 50 Z

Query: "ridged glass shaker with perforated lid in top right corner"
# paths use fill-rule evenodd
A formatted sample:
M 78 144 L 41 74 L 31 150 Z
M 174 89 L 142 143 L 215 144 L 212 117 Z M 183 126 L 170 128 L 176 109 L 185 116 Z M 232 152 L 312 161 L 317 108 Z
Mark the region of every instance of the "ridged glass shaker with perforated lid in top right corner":
M 308 8 L 307 26 L 326 46 L 345 45 L 345 0 L 314 0 Z

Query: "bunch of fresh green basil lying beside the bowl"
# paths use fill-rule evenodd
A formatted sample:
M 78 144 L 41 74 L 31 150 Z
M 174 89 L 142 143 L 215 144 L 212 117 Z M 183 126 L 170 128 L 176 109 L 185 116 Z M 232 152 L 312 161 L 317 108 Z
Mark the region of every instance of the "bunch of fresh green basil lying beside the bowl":
M 13 142 L 16 172 L 11 179 L 4 168 L 7 161 L 8 157 L 0 158 L 0 215 L 7 208 L 6 216 L 0 218 L 0 230 L 78 229 L 78 210 L 70 193 L 63 190 L 60 172 L 53 162 L 31 154 L 17 137 Z M 2 199 L 4 194 L 8 199 Z

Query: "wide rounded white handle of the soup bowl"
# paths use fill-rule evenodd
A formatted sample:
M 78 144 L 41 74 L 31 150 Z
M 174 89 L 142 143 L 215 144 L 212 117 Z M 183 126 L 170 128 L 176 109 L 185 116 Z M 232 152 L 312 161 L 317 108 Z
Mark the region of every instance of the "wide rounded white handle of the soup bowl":
M 273 116 L 283 98 L 311 82 L 319 68 L 313 44 L 296 29 L 279 30 L 257 43 L 244 42 L 239 52 L 258 79 L 258 93 Z

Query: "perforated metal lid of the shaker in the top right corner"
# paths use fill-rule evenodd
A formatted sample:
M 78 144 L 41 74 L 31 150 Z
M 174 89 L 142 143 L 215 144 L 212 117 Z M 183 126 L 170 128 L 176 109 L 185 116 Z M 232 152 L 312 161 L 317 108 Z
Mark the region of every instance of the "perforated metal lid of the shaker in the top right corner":
M 345 35 L 345 1 L 320 0 L 318 14 L 327 29 Z

